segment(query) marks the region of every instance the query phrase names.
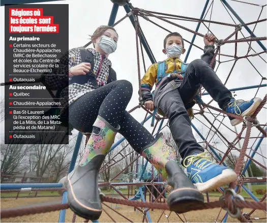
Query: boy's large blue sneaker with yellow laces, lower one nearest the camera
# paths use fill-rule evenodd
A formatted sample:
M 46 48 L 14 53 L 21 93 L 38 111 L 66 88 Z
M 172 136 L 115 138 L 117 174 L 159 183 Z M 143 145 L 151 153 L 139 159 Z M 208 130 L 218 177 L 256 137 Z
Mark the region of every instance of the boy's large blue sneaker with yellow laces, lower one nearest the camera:
M 184 160 L 187 175 L 200 192 L 216 189 L 237 179 L 232 169 L 211 162 L 206 153 L 194 153 Z

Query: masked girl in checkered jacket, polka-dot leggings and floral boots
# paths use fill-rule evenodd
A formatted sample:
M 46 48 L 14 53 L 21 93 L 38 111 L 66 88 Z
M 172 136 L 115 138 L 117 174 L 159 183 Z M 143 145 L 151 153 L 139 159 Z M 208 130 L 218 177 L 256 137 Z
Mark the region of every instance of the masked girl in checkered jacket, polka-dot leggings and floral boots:
M 63 63 L 68 60 L 69 65 L 65 69 L 62 66 L 60 70 L 69 74 L 69 85 L 61 93 L 62 107 L 69 106 L 69 122 L 80 132 L 91 133 L 81 162 L 66 179 L 70 208 L 86 219 L 95 220 L 100 217 L 102 206 L 98 192 L 98 174 L 116 133 L 122 134 L 134 150 L 153 164 L 174 188 L 167 200 L 171 210 L 182 213 L 202 205 L 203 195 L 185 175 L 163 135 L 159 134 L 154 139 L 125 110 L 132 97 L 132 84 L 127 80 L 107 83 L 111 66 L 108 56 L 116 50 L 118 41 L 115 29 L 100 26 L 91 38 L 95 49 L 86 50 L 94 55 L 93 80 L 96 80 L 98 86 L 92 83 L 92 78 L 83 84 L 78 79 L 91 71 L 91 63 L 81 62 L 79 48 L 70 50 L 66 58 L 62 59 Z M 60 71 L 54 70 L 57 73 Z M 76 78 L 75 81 L 73 78 Z M 59 86 L 58 81 L 66 84 L 66 80 L 67 75 L 48 75 L 45 79 L 49 87 L 54 89 Z

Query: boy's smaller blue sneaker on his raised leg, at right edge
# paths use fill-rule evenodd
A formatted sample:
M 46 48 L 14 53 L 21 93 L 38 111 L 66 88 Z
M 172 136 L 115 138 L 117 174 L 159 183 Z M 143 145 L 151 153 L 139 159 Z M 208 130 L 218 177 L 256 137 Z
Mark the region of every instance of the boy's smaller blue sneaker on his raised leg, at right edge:
M 244 100 L 231 99 L 226 107 L 226 112 L 236 114 L 236 115 L 241 115 L 242 117 L 246 115 L 250 116 L 254 113 L 254 111 L 257 109 L 260 103 L 261 103 L 261 99 L 259 98 L 254 98 L 247 102 Z M 240 120 L 238 118 L 233 118 L 230 116 L 229 116 L 229 119 L 230 119 L 232 126 L 243 122 L 243 120 Z

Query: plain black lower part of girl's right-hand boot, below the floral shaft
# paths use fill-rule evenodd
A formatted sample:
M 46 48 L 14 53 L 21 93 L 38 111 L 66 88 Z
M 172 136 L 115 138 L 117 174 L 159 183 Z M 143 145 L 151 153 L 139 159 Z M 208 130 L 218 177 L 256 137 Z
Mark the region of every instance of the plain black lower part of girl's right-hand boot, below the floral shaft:
M 173 188 L 167 197 L 167 204 L 171 211 L 184 213 L 204 205 L 204 196 L 176 162 L 167 162 L 165 169 L 168 174 L 168 184 Z

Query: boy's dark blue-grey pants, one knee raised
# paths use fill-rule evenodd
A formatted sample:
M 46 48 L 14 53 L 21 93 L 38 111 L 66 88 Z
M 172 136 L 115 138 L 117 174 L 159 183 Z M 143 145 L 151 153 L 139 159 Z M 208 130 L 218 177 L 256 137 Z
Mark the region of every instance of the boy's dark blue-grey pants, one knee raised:
M 204 151 L 194 138 L 190 118 L 184 106 L 194 99 L 200 85 L 210 93 L 221 109 L 232 99 L 231 92 L 223 85 L 214 70 L 202 59 L 196 59 L 188 65 L 181 86 L 166 93 L 158 106 L 169 119 L 172 137 L 179 146 L 183 160 L 188 155 Z

